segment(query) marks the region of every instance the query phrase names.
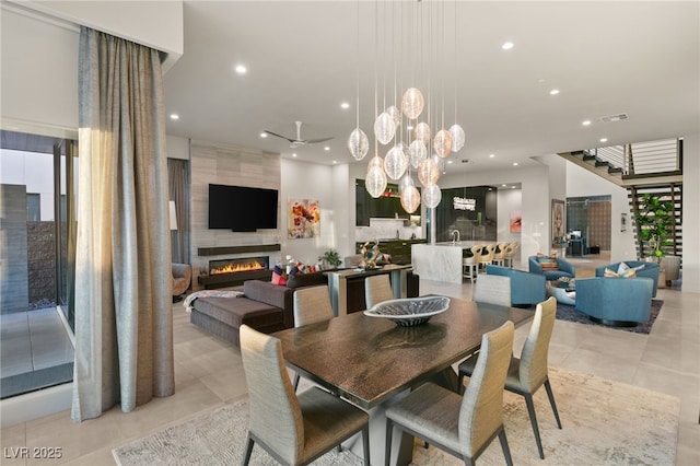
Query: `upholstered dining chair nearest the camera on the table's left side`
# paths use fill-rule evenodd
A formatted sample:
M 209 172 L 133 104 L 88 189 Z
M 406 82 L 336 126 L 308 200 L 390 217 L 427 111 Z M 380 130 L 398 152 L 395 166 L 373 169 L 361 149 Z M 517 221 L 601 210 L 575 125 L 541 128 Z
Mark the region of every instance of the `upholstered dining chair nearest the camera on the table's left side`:
M 280 340 L 247 325 L 240 331 L 250 413 L 243 464 L 248 464 L 257 443 L 284 465 L 305 465 L 362 432 L 369 466 L 370 416 L 318 387 L 296 395 L 284 369 Z

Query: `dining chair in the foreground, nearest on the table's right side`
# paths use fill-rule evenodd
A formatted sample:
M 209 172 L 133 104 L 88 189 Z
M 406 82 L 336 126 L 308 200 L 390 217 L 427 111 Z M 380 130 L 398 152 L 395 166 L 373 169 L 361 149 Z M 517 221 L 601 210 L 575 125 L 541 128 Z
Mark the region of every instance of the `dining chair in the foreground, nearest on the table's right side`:
M 478 283 L 478 282 L 477 282 Z M 392 458 L 394 428 L 474 465 L 498 435 L 509 465 L 513 464 L 503 429 L 503 382 L 513 351 L 512 322 L 481 337 L 481 357 L 464 396 L 425 383 L 386 410 L 386 457 Z

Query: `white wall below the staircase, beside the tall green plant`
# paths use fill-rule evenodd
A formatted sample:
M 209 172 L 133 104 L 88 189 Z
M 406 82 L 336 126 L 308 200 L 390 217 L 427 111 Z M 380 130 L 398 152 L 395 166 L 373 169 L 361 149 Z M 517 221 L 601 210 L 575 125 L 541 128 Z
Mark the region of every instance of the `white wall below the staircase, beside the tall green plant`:
M 610 263 L 637 259 L 634 229 L 627 189 L 567 163 L 567 197 L 610 196 Z M 627 231 L 620 231 L 620 217 L 627 213 Z

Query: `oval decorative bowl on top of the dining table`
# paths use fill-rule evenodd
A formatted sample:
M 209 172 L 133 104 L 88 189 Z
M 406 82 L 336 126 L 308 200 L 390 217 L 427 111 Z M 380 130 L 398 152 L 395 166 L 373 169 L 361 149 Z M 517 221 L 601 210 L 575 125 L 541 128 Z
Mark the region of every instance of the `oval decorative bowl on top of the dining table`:
M 450 298 L 421 296 L 384 301 L 364 311 L 370 317 L 384 317 L 401 327 L 412 327 L 430 321 L 430 317 L 447 311 Z

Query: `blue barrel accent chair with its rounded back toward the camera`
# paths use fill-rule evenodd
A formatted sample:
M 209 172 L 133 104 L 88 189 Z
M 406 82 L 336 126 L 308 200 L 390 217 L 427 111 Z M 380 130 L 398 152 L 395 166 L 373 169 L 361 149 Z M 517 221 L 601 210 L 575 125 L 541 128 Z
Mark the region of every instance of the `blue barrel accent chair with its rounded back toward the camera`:
M 599 324 L 633 327 L 649 321 L 653 287 L 651 278 L 581 278 L 576 310 Z

